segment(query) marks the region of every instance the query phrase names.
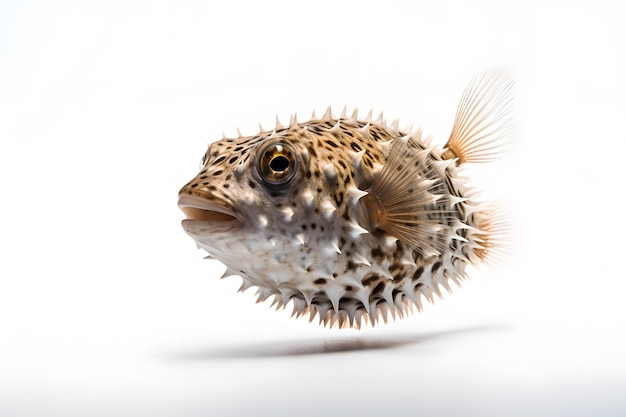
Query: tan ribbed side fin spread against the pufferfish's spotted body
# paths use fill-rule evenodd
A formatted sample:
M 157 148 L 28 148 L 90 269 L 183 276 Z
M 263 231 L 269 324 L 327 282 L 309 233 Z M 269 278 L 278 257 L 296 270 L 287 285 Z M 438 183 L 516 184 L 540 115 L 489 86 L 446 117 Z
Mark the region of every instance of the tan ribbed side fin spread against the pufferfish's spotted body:
M 446 249 L 453 213 L 441 200 L 448 198 L 445 185 L 428 163 L 428 150 L 414 140 L 394 140 L 385 166 L 360 200 L 360 220 L 370 231 L 382 229 L 423 256 L 438 255 Z

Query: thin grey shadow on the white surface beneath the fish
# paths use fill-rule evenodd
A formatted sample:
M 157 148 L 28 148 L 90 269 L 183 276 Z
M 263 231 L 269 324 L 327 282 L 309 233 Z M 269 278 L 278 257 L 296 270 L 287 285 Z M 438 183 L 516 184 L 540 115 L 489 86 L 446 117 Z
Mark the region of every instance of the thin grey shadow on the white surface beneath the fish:
M 393 349 L 447 337 L 481 332 L 506 331 L 506 326 L 480 326 L 413 335 L 363 335 L 328 339 L 276 340 L 275 342 L 250 343 L 209 347 L 195 351 L 170 353 L 173 360 L 241 359 L 263 357 L 286 357 L 317 355 L 340 352 Z

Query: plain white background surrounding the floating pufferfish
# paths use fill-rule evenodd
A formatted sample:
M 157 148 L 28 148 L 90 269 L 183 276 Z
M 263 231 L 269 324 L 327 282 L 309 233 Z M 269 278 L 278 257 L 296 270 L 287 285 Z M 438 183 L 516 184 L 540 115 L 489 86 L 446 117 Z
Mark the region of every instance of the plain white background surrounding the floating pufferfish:
M 410 6 L 409 6 L 410 4 Z M 619 1 L 0 2 L 0 415 L 626 413 Z M 328 330 L 238 294 L 182 231 L 207 143 L 332 104 L 444 143 L 517 80 L 472 172 L 513 254 L 422 314 Z

